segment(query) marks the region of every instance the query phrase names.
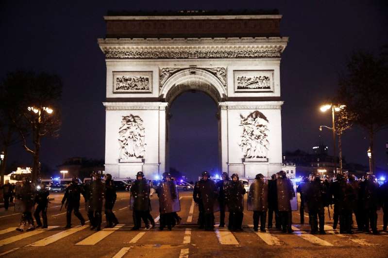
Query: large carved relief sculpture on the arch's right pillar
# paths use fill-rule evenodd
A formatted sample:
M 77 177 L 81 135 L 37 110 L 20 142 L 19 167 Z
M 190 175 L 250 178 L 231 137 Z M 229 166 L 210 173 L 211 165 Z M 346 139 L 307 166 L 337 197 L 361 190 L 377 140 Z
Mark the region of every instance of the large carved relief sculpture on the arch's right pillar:
M 267 158 L 269 141 L 268 141 L 268 119 L 259 112 L 254 111 L 247 117 L 240 115 L 241 121 L 241 147 L 245 159 Z

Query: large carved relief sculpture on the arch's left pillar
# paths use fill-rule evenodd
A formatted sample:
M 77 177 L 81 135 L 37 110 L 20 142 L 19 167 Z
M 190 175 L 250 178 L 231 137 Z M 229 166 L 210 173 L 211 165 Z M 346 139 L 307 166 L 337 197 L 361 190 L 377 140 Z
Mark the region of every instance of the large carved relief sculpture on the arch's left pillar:
M 137 115 L 122 116 L 121 127 L 118 130 L 120 144 L 120 160 L 144 158 L 144 127 L 143 120 Z

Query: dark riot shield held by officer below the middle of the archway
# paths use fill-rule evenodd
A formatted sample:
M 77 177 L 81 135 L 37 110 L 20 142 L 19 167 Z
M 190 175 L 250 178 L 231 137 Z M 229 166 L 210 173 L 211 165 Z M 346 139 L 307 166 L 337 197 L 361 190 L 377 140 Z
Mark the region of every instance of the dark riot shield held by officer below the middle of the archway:
M 217 187 L 213 180 L 202 180 L 199 182 L 199 192 L 202 199 L 203 210 L 205 213 L 219 211 L 219 201 L 217 196 Z

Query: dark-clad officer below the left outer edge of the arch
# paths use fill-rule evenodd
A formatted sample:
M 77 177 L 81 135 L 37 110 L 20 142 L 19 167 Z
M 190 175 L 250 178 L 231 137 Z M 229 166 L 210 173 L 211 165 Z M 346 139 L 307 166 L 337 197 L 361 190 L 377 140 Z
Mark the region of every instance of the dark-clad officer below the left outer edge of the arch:
M 105 217 L 106 227 L 114 227 L 118 225 L 118 220 L 113 213 L 113 206 L 117 198 L 115 182 L 112 180 L 112 175 L 105 175 Z

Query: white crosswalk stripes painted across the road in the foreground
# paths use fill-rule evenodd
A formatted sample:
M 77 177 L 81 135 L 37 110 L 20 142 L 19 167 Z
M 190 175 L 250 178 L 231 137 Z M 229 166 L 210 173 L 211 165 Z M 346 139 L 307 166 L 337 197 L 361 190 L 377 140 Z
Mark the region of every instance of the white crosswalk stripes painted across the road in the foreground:
M 157 218 L 158 219 L 158 218 Z M 94 232 L 90 234 L 89 236 L 85 237 L 83 240 L 74 243 L 75 245 L 78 246 L 92 246 L 99 244 L 103 239 L 109 237 L 111 234 L 120 232 L 119 234 L 128 234 L 128 227 L 124 228 L 124 224 L 119 224 L 113 228 L 105 228 L 101 231 Z M 130 225 L 128 225 L 130 226 Z M 281 246 L 281 245 L 295 245 L 295 241 L 298 244 L 298 239 L 299 241 L 304 241 L 304 244 L 312 244 L 312 245 L 319 245 L 319 246 L 340 246 L 342 245 L 341 242 L 338 241 L 333 241 L 333 236 L 338 237 L 339 240 L 343 240 L 344 242 L 352 242 L 354 244 L 357 244 L 359 246 L 381 246 L 380 243 L 376 243 L 371 241 L 370 239 L 366 240 L 363 239 L 362 236 L 364 234 L 355 234 L 355 235 L 348 235 L 348 234 L 339 234 L 337 230 L 334 230 L 332 226 L 330 225 L 325 225 L 325 230 L 327 232 L 327 236 L 323 235 L 312 235 L 308 233 L 308 231 L 303 230 L 303 225 L 293 225 L 292 229 L 294 230 L 293 235 L 297 236 L 297 238 L 293 237 L 292 235 L 289 234 L 283 234 L 278 230 L 268 230 L 267 232 L 254 232 L 253 231 L 253 225 L 248 225 L 248 227 L 245 227 L 244 229 L 244 234 L 254 234 L 257 237 L 258 241 L 262 241 L 263 244 L 268 245 L 268 246 Z M 52 229 L 58 230 L 59 232 L 55 232 L 51 236 L 47 237 L 47 234 L 42 234 L 44 232 L 51 232 L 53 231 Z M 84 230 L 85 228 L 88 228 L 88 226 L 75 226 L 70 229 L 64 229 L 61 230 L 59 226 L 50 226 L 48 229 L 35 229 L 34 231 L 29 231 L 29 232 L 23 232 L 19 233 L 15 230 L 15 227 L 10 227 L 10 228 L 5 228 L 0 230 L 0 235 L 1 235 L 1 240 L 0 240 L 0 247 L 4 245 L 8 245 L 11 243 L 16 243 L 20 240 L 27 240 L 30 238 L 31 240 L 34 239 L 34 241 L 31 241 L 32 243 L 29 243 L 26 245 L 24 242 L 25 247 L 44 247 L 47 245 L 50 245 L 52 243 L 58 242 L 60 240 L 63 240 L 64 238 L 70 237 L 71 235 L 76 235 L 77 233 L 80 233 L 80 231 Z M 123 229 L 123 230 L 118 230 L 118 229 Z M 244 241 L 241 241 L 240 239 L 237 238 L 239 232 L 231 232 L 227 228 L 218 228 L 216 227 L 214 231 L 203 231 L 201 229 L 197 229 L 197 227 L 190 227 L 188 224 L 182 225 L 182 226 L 176 226 L 175 229 L 176 231 L 176 244 L 182 245 L 182 248 L 180 249 L 180 257 L 182 258 L 187 258 L 189 256 L 189 248 L 191 246 L 191 241 L 192 241 L 192 232 L 194 231 L 200 231 L 201 235 L 206 235 L 206 237 L 212 237 L 212 235 L 217 239 L 218 243 L 221 246 L 242 246 L 245 243 Z M 180 233 L 184 230 L 184 234 Z M 83 234 L 85 234 L 86 231 L 84 231 Z M 87 231 L 89 232 L 89 231 Z M 129 242 L 125 242 L 125 244 L 128 244 L 128 246 L 120 246 L 119 250 L 116 251 L 118 253 L 115 254 L 115 258 L 120 258 L 125 256 L 131 248 L 134 248 L 136 245 L 143 244 L 144 242 L 147 242 L 150 238 L 148 238 L 148 234 L 154 234 L 155 230 L 144 230 L 140 232 L 135 232 L 136 234 L 131 234 L 131 238 L 129 239 Z M 42 234 L 45 236 L 42 239 L 36 239 L 36 237 L 39 237 L 39 234 Z M 164 232 L 161 232 L 160 234 L 164 234 Z M 11 236 L 9 236 L 11 235 Z M 35 236 L 35 237 L 34 237 Z M 150 235 L 151 236 L 151 235 Z M 197 236 L 197 235 L 195 235 Z M 292 238 L 292 243 L 287 242 Z M 329 236 L 329 237 L 328 237 Z M 375 237 L 371 236 L 370 237 Z M 237 240 L 238 239 L 238 240 Z M 141 243 L 139 243 L 141 242 Z M 302 244 L 302 242 L 300 242 Z M 15 246 L 12 246 L 15 247 Z M 11 252 L 15 252 L 19 250 L 21 247 L 15 247 L 15 248 L 10 248 L 8 251 L 4 251 L 3 253 L 0 253 L 0 256 L 4 256 L 7 254 L 10 254 Z M 1 250 L 3 251 L 3 250 Z

